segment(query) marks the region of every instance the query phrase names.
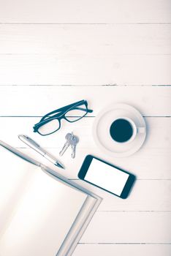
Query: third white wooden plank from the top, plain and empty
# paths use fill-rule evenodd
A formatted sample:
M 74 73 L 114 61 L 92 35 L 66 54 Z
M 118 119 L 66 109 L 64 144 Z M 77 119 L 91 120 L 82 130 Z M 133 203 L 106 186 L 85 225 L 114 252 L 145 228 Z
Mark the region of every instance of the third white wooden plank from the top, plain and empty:
M 77 56 L 1 55 L 0 85 L 170 85 L 170 62 L 170 55 L 95 56 L 91 50 Z

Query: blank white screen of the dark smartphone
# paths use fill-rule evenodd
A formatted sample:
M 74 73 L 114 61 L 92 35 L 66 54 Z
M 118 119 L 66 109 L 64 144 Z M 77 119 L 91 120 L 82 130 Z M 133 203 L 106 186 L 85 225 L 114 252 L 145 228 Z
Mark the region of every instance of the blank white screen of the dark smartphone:
M 84 180 L 120 196 L 128 178 L 128 173 L 93 158 Z

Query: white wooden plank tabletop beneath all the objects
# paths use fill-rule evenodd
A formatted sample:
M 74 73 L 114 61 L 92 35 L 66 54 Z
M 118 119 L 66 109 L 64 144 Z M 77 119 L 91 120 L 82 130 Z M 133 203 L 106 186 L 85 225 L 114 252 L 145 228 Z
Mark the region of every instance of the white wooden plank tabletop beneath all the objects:
M 77 157 L 66 152 L 59 171 L 104 198 L 74 256 L 171 255 L 170 11 L 170 0 L 0 1 L 1 140 L 39 158 L 18 140 L 25 133 L 58 156 L 75 132 Z M 45 138 L 32 132 L 40 116 L 80 99 L 94 109 L 88 118 Z M 131 157 L 94 143 L 94 118 L 111 102 L 145 117 L 147 139 Z M 137 176 L 127 200 L 77 179 L 86 154 Z

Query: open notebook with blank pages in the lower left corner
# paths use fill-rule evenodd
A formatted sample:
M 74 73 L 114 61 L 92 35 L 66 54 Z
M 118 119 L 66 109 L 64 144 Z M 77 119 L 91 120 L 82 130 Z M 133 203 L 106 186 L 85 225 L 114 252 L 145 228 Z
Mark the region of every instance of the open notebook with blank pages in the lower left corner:
M 101 198 L 0 145 L 0 256 L 72 255 Z

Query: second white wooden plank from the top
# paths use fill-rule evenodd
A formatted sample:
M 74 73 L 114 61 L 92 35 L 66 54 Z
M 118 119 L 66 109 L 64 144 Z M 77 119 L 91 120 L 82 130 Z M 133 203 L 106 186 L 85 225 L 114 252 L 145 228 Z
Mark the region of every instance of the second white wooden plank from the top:
M 0 54 L 96 59 L 115 55 L 170 54 L 170 24 L 0 25 Z M 103 60 L 104 61 L 104 60 Z

